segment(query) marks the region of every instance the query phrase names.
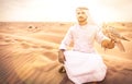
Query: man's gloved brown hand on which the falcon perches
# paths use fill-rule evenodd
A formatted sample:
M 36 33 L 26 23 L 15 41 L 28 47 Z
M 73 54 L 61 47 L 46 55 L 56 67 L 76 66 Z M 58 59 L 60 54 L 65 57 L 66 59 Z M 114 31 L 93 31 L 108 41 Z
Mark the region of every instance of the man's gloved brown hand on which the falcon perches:
M 105 39 L 105 40 L 102 40 L 101 46 L 102 46 L 105 49 L 106 49 L 106 48 L 107 48 L 107 49 L 112 49 L 112 48 L 114 48 L 114 41 Z

